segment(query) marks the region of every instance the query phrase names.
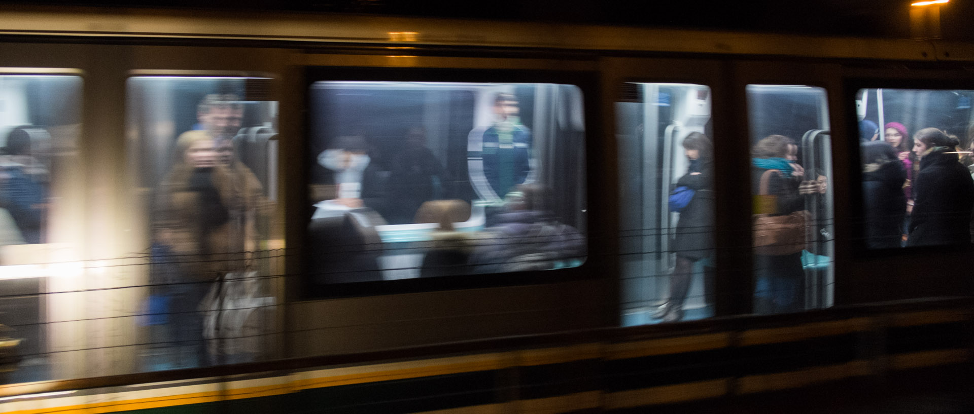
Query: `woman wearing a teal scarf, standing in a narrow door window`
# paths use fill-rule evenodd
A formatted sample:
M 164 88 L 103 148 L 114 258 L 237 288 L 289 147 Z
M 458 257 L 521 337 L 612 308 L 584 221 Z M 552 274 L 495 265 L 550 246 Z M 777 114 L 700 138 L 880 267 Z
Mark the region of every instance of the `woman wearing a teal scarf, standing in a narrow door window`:
M 770 135 L 751 148 L 751 189 L 758 194 L 768 171 L 767 195 L 774 197 L 772 216 L 805 210 L 805 195 L 814 185 L 803 182 L 805 171 L 788 159 L 791 138 Z M 805 271 L 802 253 L 754 255 L 754 313 L 798 312 L 805 309 Z

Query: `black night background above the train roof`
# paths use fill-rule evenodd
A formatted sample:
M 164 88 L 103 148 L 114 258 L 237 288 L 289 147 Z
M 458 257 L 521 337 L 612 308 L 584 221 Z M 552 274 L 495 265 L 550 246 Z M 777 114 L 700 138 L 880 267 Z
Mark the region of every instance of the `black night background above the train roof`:
M 909 0 L 33 0 L 17 5 L 150 7 L 486 18 L 810 35 L 909 38 Z M 974 0 L 941 9 L 941 37 L 974 40 Z

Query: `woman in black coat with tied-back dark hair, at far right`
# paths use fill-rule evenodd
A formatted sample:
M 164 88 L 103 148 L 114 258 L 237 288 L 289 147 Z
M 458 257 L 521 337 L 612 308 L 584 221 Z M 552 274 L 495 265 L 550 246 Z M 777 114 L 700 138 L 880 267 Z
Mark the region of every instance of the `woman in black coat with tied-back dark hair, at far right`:
M 937 128 L 923 128 L 914 135 L 919 172 L 914 180 L 915 204 L 907 246 L 970 242 L 974 182 L 954 147 L 954 140 Z

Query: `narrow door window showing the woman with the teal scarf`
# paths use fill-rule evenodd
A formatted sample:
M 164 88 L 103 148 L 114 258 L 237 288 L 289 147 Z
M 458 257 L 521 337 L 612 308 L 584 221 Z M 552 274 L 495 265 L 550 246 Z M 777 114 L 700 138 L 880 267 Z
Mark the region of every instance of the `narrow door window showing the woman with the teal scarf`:
M 754 311 L 831 306 L 832 158 L 825 89 L 747 86 Z

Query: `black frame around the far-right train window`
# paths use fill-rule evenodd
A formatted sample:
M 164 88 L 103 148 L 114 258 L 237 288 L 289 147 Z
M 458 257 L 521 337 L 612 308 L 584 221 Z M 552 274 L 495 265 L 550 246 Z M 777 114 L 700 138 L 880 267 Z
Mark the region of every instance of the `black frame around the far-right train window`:
M 859 119 L 856 110 L 856 96 L 863 89 L 915 89 L 915 90 L 974 90 L 974 82 L 957 81 L 942 79 L 939 77 L 931 78 L 904 78 L 904 77 L 881 77 L 881 76 L 850 76 L 845 78 L 843 85 L 843 111 L 845 112 L 845 128 L 848 139 L 844 146 L 834 146 L 833 151 L 845 151 L 849 155 L 849 162 L 846 165 L 836 165 L 835 168 L 843 167 L 843 173 L 847 177 L 849 206 L 862 206 L 864 194 L 862 192 L 863 177 L 860 162 L 861 152 L 859 147 Z M 910 131 L 911 134 L 916 131 Z M 854 139 L 853 139 L 854 138 Z M 937 246 L 902 246 L 894 248 L 871 249 L 866 243 L 865 212 L 861 208 L 846 208 L 845 215 L 849 221 L 847 225 L 848 235 L 853 240 L 849 244 L 851 259 L 885 259 L 904 256 L 936 254 L 970 254 L 974 252 L 974 242 L 962 244 L 947 244 Z M 837 237 L 839 237 L 837 235 Z

